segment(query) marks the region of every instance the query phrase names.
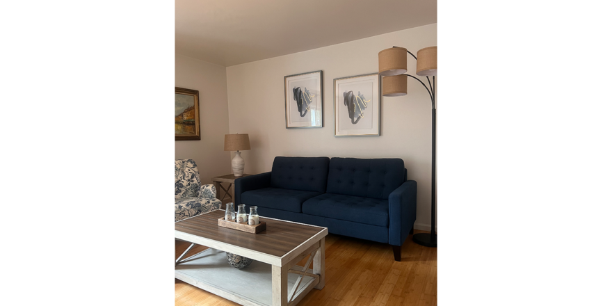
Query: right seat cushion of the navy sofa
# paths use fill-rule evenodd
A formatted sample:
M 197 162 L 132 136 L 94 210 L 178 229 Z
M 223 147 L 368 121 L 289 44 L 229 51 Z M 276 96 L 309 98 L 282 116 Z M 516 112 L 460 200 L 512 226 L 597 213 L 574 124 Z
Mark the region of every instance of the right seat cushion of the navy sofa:
M 389 226 L 389 201 L 323 193 L 302 204 L 304 214 L 351 222 Z

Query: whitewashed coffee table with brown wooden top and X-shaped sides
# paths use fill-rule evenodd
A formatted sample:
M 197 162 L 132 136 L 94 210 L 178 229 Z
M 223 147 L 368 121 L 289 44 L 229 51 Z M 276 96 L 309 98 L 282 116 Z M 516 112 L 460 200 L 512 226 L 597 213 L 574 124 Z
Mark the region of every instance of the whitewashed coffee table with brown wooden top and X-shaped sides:
M 219 209 L 175 222 L 175 239 L 192 243 L 175 260 L 175 278 L 252 306 L 293 306 L 312 288 L 323 289 L 327 227 L 259 216 L 266 230 L 250 234 L 218 226 L 224 215 Z M 194 244 L 209 249 L 182 259 Z M 236 269 L 227 263 L 225 252 L 253 262 Z M 305 266 L 296 265 L 306 257 Z

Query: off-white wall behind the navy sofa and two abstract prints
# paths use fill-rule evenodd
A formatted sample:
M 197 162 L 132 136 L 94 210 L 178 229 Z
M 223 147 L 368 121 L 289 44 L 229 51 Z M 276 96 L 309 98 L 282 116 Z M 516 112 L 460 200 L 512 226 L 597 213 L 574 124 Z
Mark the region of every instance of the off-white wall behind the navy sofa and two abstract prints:
M 270 171 L 275 156 L 400 158 L 408 179 L 417 181 L 415 228 L 430 230 L 431 100 L 421 83 L 408 77 L 408 95 L 382 97 L 380 136 L 334 136 L 333 80 L 378 72 L 378 52 L 394 46 L 415 56 L 419 49 L 437 46 L 437 24 L 227 67 L 230 133 L 250 138 L 251 150 L 242 153 L 245 173 Z M 408 74 L 416 75 L 417 63 L 407 56 Z M 287 129 L 284 77 L 316 70 L 323 70 L 323 127 Z M 437 77 L 435 83 L 437 92 Z

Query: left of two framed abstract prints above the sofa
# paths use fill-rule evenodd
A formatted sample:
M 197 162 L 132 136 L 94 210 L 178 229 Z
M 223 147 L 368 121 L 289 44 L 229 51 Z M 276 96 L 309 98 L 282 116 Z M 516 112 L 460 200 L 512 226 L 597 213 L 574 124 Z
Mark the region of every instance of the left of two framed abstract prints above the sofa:
M 323 70 L 284 77 L 285 128 L 323 127 Z

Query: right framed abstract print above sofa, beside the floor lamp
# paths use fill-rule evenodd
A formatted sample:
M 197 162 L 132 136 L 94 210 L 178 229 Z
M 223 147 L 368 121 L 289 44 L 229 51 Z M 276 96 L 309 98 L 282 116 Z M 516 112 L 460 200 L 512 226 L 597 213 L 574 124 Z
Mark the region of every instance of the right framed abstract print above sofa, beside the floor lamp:
M 335 137 L 380 136 L 378 73 L 334 79 Z

